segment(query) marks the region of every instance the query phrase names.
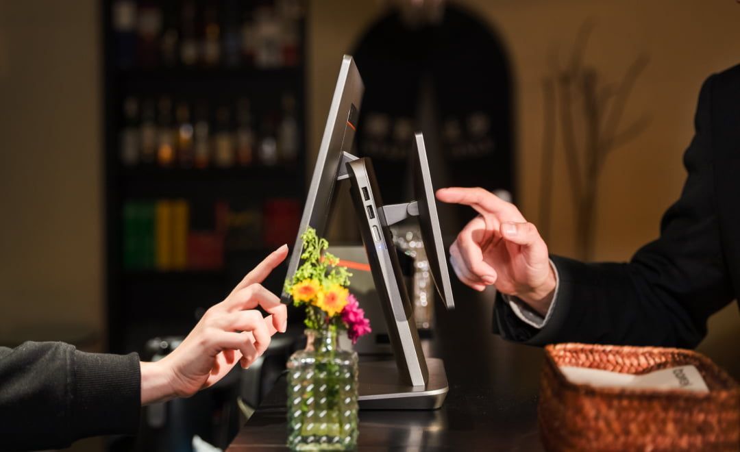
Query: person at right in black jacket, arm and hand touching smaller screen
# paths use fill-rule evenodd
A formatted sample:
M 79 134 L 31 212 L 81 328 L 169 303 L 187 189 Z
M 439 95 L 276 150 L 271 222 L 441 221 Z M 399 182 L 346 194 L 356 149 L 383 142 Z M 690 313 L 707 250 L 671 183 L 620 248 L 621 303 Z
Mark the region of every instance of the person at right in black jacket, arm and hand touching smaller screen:
M 629 263 L 549 255 L 511 203 L 483 189 L 437 192 L 480 214 L 451 246 L 451 264 L 471 288 L 498 289 L 495 331 L 532 345 L 702 340 L 707 318 L 740 295 L 740 65 L 704 82 L 695 127 L 682 195 Z

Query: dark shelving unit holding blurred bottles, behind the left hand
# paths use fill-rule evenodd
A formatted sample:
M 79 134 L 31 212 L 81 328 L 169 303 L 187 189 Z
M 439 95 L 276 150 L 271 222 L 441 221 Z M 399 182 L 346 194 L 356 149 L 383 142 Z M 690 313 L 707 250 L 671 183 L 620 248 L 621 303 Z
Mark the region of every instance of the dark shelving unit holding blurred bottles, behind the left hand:
M 116 14 L 121 15 L 122 6 L 130 9 L 133 5 L 138 8 L 135 18 L 149 20 L 152 8 L 160 8 L 161 24 L 164 25 L 161 25 L 159 33 L 164 33 L 168 23 L 172 26 L 173 22 L 181 21 L 181 8 L 186 6 L 195 7 L 198 11 L 215 8 L 218 10 L 219 20 L 225 21 L 228 18 L 224 15 L 223 8 L 239 8 L 239 20 L 242 20 L 242 17 L 254 18 L 257 8 L 272 8 L 277 14 L 277 7 L 280 5 L 275 3 L 280 3 L 280 0 L 182 0 L 162 2 L 164 6 L 153 1 L 103 1 L 105 138 L 101 152 L 104 152 L 107 331 L 108 346 L 114 353 L 141 351 L 144 343 L 151 337 L 186 334 L 206 308 L 221 301 L 249 269 L 272 251 L 271 246 L 261 243 L 260 237 L 257 237 L 254 246 L 242 246 L 238 250 L 229 250 L 226 247 L 223 265 L 218 269 L 192 269 L 189 266 L 166 271 L 156 266 L 127 268 L 124 266 L 124 235 L 127 233 L 124 231 L 124 206 L 127 203 L 178 199 L 185 200 L 192 206 L 209 206 L 223 202 L 230 206 L 250 206 L 260 212 L 262 206 L 272 199 L 302 204 L 306 186 L 303 18 L 297 22 L 296 29 L 298 63 L 290 67 L 260 68 L 246 61 L 232 67 L 226 67 L 226 64 L 211 67 L 201 64 L 187 66 L 182 62 L 172 67 L 164 67 L 164 64 L 141 67 L 136 64 L 135 58 L 132 58 L 131 64 L 121 64 L 124 59 L 120 55 L 121 24 L 125 25 L 126 21 L 122 21 Z M 288 3 L 289 6 L 299 5 L 305 8 L 300 0 Z M 142 8 L 149 8 L 145 12 L 149 14 L 148 18 L 142 18 Z M 251 10 L 246 11 L 247 9 Z M 178 17 L 166 16 L 172 13 Z M 124 19 L 130 19 L 130 16 L 129 11 Z M 199 24 L 201 20 L 203 19 L 198 19 Z M 240 26 L 242 31 L 246 29 L 243 24 Z M 177 27 L 175 24 L 175 28 Z M 134 27 L 133 32 L 128 30 L 127 33 L 134 33 L 134 38 L 141 40 L 141 36 L 138 36 L 141 33 L 140 28 Z M 196 30 L 196 37 L 203 36 L 205 33 Z M 172 99 L 173 107 L 178 100 L 189 103 L 193 113 L 195 104 L 207 104 L 211 131 L 215 129 L 213 110 L 216 107 L 226 105 L 235 113 L 238 99 L 246 98 L 249 100 L 253 127 L 259 141 L 263 133 L 260 130 L 262 118 L 269 116 L 271 121 L 275 121 L 275 113 L 281 112 L 281 102 L 286 93 L 295 99 L 293 111 L 297 125 L 297 155 L 290 161 L 283 159 L 266 165 L 255 159 L 255 163 L 249 166 L 218 167 L 209 164 L 206 168 L 184 168 L 178 166 L 178 163 L 163 167 L 156 161 L 127 165 L 121 159 L 121 134 L 125 127 L 129 127 L 124 116 L 124 101 L 127 98 L 133 96 L 140 101 L 150 99 L 156 105 L 158 98 L 166 96 Z M 232 115 L 232 123 L 234 116 L 235 114 Z M 175 122 L 173 111 L 172 123 Z M 195 118 L 192 122 L 195 122 Z M 175 126 L 172 125 L 172 128 L 175 129 Z M 192 223 L 203 223 L 203 218 L 198 218 L 199 213 L 195 210 L 189 210 L 191 226 Z M 206 223 L 208 221 L 212 222 L 212 219 L 206 219 Z M 265 224 L 263 229 L 274 229 L 272 226 L 274 225 Z M 288 225 L 288 229 L 290 226 Z M 297 229 L 297 218 L 293 226 Z M 280 291 L 284 276 L 285 269 L 277 269 L 265 284 L 273 291 Z

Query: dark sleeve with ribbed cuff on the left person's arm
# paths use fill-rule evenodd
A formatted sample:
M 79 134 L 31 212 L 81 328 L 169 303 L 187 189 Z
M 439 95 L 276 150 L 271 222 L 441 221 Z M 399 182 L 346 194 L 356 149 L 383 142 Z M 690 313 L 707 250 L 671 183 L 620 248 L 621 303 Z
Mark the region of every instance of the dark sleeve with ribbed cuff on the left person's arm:
M 137 354 L 85 353 L 55 342 L 0 348 L 0 450 L 135 434 L 140 372 Z

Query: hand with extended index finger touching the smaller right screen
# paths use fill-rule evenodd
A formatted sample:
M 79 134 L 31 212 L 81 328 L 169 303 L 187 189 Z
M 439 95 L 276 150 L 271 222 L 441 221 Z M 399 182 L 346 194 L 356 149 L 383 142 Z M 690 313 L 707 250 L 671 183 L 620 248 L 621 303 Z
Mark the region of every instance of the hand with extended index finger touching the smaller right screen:
M 450 263 L 460 280 L 477 291 L 496 286 L 545 315 L 555 290 L 548 246 L 534 224 L 514 204 L 481 188 L 437 191 L 445 203 L 471 206 L 480 215 L 450 247 Z

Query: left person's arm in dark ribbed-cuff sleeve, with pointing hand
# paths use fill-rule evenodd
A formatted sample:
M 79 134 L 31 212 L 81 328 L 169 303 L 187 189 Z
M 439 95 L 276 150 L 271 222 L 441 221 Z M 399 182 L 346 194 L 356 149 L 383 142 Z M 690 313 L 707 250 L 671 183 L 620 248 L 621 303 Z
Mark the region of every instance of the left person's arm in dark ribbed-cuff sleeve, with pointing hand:
M 0 449 L 64 448 L 86 436 L 135 434 L 141 405 L 192 396 L 236 362 L 249 367 L 270 337 L 286 330 L 286 306 L 260 283 L 287 253 L 283 245 L 266 257 L 157 362 L 64 343 L 0 348 Z

